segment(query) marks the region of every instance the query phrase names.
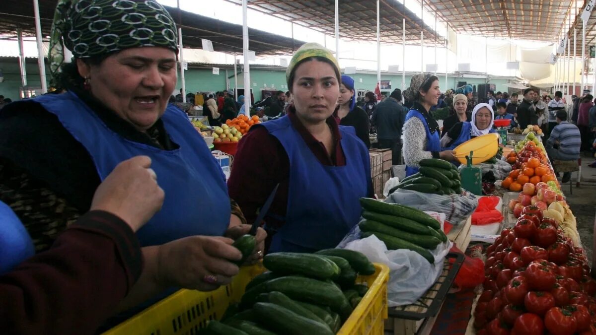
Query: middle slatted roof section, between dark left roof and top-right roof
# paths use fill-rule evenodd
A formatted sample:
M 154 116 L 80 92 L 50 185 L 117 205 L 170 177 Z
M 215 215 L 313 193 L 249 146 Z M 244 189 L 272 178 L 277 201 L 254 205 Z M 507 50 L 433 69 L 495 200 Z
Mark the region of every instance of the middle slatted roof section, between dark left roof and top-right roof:
M 226 1 L 242 4 L 242 0 Z M 335 35 L 334 0 L 258 0 L 249 1 L 249 8 L 327 35 Z M 437 35 L 433 27 L 396 0 L 380 0 L 379 13 L 381 43 L 402 43 L 402 19 L 405 18 L 406 44 L 420 44 L 421 29 L 426 45 L 433 45 L 435 38 L 437 44 L 445 44 L 445 38 Z M 342 1 L 339 7 L 339 36 L 347 41 L 376 41 L 377 2 Z

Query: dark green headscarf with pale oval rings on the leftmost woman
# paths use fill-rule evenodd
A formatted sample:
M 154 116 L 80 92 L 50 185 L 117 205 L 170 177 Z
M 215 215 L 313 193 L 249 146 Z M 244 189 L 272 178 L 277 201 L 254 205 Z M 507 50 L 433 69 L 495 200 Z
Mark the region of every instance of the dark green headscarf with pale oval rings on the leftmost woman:
M 75 58 L 141 46 L 177 52 L 178 33 L 170 14 L 154 0 L 60 0 L 49 41 L 54 79 L 64 63 L 64 46 Z

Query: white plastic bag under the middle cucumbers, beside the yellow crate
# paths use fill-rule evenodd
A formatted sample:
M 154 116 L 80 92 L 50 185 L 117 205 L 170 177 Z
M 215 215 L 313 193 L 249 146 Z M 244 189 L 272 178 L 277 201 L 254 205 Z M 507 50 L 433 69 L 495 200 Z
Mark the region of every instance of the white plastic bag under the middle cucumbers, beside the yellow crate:
M 371 262 L 389 266 L 389 307 L 409 305 L 423 296 L 443 271 L 443 260 L 453 245 L 447 241 L 429 250 L 434 256 L 434 264 L 431 264 L 412 250 L 387 250 L 385 243 L 375 235 L 362 239 L 359 236 L 360 228 L 356 225 L 338 247 L 359 251 Z

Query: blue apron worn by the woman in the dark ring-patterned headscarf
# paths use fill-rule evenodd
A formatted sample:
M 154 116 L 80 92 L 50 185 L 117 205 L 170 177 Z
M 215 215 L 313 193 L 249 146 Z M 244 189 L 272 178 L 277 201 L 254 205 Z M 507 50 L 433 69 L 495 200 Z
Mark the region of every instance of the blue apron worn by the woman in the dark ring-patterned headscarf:
M 170 105 L 161 117 L 170 139 L 180 146 L 167 151 L 116 134 L 72 92 L 48 94 L 35 101 L 55 114 L 86 148 L 101 180 L 123 160 L 151 157 L 151 169 L 166 197 L 162 209 L 136 232 L 141 246 L 191 235 L 224 234 L 231 212 L 224 173 L 181 110 Z

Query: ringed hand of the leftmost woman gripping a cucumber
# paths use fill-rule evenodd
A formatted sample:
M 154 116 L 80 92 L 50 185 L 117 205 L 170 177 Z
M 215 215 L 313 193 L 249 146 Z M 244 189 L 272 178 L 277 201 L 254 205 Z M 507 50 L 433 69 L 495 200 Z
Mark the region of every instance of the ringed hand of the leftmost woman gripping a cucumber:
M 226 237 L 190 236 L 159 246 L 156 281 L 164 287 L 212 291 L 238 274 L 240 250 Z

